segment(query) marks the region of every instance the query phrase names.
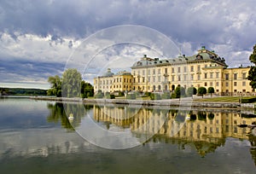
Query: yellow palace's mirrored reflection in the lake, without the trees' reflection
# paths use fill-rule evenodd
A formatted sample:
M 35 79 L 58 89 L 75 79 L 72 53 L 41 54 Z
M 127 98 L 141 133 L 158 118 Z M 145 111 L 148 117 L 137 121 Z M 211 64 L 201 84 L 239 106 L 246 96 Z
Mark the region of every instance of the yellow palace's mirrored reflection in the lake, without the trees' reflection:
M 190 146 L 192 143 L 201 156 L 223 146 L 226 137 L 248 140 L 247 132 L 250 129 L 240 128 L 237 125 L 252 125 L 256 121 L 256 117 L 247 118 L 241 113 L 221 112 L 221 110 L 188 112 L 170 107 L 95 105 L 93 111 L 94 119 L 103 122 L 106 129 L 115 125 L 130 129 L 134 136 L 154 134 L 148 141 L 173 142 L 179 144 L 180 148 L 185 148 L 186 144 Z

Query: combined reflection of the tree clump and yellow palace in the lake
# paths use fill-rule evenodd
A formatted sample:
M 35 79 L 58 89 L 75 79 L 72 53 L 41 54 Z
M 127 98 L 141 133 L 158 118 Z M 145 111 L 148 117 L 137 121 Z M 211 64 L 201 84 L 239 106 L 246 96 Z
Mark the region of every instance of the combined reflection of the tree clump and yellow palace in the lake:
M 66 105 L 66 110 L 64 105 Z M 226 137 L 242 140 L 250 138 L 250 142 L 255 147 L 254 136 L 247 135 L 250 129 L 237 127 L 241 124 L 252 125 L 256 121 L 256 117 L 252 115 L 200 110 L 188 112 L 170 107 L 82 105 L 77 103 L 49 103 L 47 107 L 50 111 L 47 120 L 54 123 L 60 121 L 62 127 L 67 131 L 78 129 L 84 117 L 89 116 L 103 129 L 129 130 L 133 136 L 143 137 L 144 142 L 175 142 L 181 149 L 185 149 L 186 144 L 192 142 L 201 156 L 224 146 Z M 72 123 L 68 119 L 70 113 L 74 115 Z M 87 113 L 92 115 L 86 115 Z

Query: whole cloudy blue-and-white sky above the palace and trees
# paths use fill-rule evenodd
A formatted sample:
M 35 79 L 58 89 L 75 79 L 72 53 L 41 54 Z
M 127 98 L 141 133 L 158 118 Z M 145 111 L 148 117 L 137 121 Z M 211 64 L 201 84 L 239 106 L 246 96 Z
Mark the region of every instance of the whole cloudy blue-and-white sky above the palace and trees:
M 122 25 L 159 32 L 184 55 L 206 46 L 229 67 L 252 65 L 248 57 L 256 44 L 255 0 L 0 0 L 0 86 L 47 89 L 48 77 L 61 76 L 79 53 L 83 60 L 73 66 L 81 67 L 89 82 L 108 67 L 131 71 L 145 54 L 163 56 L 152 45 L 139 43 L 113 43 L 97 50 L 93 59 L 85 56 L 96 50 L 88 38 Z

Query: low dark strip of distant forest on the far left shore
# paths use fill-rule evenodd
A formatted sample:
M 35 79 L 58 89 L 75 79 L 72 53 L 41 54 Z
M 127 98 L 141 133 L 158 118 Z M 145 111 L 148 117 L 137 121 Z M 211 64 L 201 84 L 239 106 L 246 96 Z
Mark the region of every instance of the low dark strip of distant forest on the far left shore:
M 46 95 L 47 95 L 47 90 L 0 87 L 0 96 L 46 96 Z

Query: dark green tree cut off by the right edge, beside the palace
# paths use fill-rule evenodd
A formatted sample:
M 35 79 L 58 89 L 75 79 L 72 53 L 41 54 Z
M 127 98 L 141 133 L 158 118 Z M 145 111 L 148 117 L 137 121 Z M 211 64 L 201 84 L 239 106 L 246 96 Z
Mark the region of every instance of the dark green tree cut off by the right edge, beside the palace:
M 249 60 L 256 65 L 256 44 L 253 47 L 253 53 L 250 55 Z M 248 80 L 250 80 L 250 85 L 252 86 L 253 90 L 256 89 L 256 67 L 252 66 L 248 73 Z

